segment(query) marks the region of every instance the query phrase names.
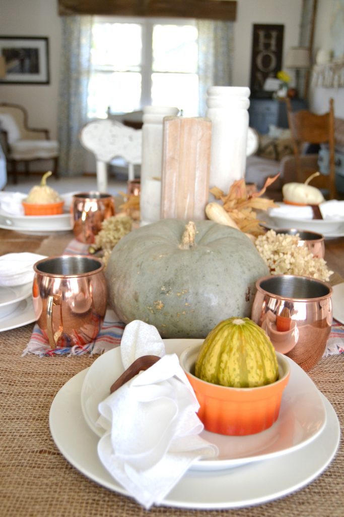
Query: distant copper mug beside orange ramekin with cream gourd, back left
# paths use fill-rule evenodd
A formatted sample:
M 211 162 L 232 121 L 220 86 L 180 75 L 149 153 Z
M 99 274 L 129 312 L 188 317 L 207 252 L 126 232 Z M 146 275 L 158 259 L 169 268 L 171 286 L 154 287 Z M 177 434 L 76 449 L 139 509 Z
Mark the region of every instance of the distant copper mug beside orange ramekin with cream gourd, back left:
M 84 244 L 93 244 L 102 223 L 114 216 L 114 201 L 110 194 L 80 192 L 72 196 L 71 214 L 75 238 Z

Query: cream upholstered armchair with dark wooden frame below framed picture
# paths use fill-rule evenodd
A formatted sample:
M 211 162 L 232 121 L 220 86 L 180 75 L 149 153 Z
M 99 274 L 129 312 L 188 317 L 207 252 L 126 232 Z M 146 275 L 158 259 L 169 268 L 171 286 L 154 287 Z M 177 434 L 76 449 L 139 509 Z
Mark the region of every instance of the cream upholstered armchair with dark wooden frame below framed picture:
M 47 129 L 28 127 L 27 112 L 18 104 L 0 103 L 0 139 L 7 163 L 11 165 L 13 183 L 17 183 L 17 165 L 23 162 L 28 174 L 29 162 L 36 160 L 52 160 L 53 174 L 58 176 L 57 165 L 59 145 L 50 140 Z

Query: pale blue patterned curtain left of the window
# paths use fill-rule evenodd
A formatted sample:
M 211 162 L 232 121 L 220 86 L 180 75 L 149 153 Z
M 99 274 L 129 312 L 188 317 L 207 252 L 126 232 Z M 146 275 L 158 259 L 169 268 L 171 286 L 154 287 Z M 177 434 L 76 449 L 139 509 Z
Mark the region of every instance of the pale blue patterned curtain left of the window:
M 58 105 L 59 170 L 62 176 L 84 172 L 85 150 L 80 145 L 79 132 L 87 121 L 91 37 L 91 16 L 62 17 Z

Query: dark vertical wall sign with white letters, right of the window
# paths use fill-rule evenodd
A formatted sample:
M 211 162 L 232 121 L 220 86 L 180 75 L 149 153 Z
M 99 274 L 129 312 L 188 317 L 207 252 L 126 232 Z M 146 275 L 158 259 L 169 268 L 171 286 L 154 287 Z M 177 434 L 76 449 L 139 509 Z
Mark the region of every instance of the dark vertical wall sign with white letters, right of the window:
M 284 25 L 253 25 L 251 97 L 264 96 L 264 83 L 282 69 Z

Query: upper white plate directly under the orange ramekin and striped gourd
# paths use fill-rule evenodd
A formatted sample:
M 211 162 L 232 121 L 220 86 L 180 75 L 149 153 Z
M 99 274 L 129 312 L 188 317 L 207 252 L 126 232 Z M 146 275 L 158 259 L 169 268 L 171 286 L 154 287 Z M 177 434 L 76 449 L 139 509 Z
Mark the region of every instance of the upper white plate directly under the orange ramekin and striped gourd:
M 165 339 L 166 353 L 182 351 L 202 339 Z M 201 436 L 219 448 L 216 459 L 193 463 L 194 470 L 218 470 L 287 454 L 314 440 L 326 421 L 325 407 L 312 379 L 289 358 L 290 380 L 283 392 L 280 415 L 267 430 L 250 436 L 224 436 L 203 431 Z M 81 409 L 89 427 L 98 436 L 104 429 L 96 425 L 98 405 L 109 394 L 110 386 L 123 373 L 120 347 L 97 358 L 81 389 Z

